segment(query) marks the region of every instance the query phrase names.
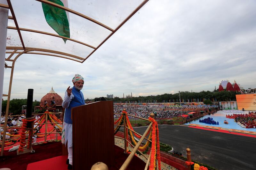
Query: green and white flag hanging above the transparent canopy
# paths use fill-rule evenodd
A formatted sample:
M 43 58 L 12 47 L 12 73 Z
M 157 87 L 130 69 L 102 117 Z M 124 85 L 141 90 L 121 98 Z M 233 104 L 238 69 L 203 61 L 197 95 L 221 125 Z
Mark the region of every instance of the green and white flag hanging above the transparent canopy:
M 68 0 L 48 1 L 68 8 Z M 58 33 L 60 36 L 70 38 L 68 12 L 45 3 L 42 3 L 42 7 L 44 11 L 45 20 L 49 24 L 49 26 L 51 26 L 52 29 L 54 29 L 54 31 L 56 31 L 56 33 Z M 63 38 L 63 40 L 66 43 L 67 39 Z

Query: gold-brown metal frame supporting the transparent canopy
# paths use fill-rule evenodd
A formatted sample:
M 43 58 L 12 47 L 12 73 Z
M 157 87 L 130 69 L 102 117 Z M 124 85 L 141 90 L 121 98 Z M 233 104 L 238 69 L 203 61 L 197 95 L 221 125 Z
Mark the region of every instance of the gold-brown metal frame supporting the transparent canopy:
M 39 30 L 33 30 L 33 29 L 20 28 L 19 24 L 17 22 L 17 19 L 15 17 L 14 10 L 12 8 L 11 0 L 6 0 L 6 1 L 7 1 L 8 5 L 0 4 L 0 7 L 7 8 L 7 9 L 9 9 L 11 11 L 12 16 L 8 16 L 8 19 L 13 20 L 14 23 L 15 23 L 15 27 L 8 26 L 7 29 L 17 30 L 22 46 L 21 47 L 16 47 L 16 46 L 7 46 L 6 47 L 6 52 L 5 53 L 6 54 L 10 54 L 10 55 L 7 58 L 5 58 L 5 61 L 12 62 L 12 66 L 8 66 L 7 64 L 5 64 L 4 67 L 5 68 L 11 68 L 12 70 L 11 70 L 11 77 L 10 77 L 8 94 L 3 94 L 3 96 L 8 97 L 8 99 L 7 99 L 7 106 L 6 106 L 6 112 L 5 112 L 5 120 L 8 119 L 8 113 L 9 113 L 9 105 L 10 105 L 10 97 L 11 97 L 11 89 L 12 89 L 12 77 L 13 77 L 13 71 L 14 71 L 14 64 L 15 64 L 16 60 L 20 57 L 20 55 L 22 55 L 22 54 L 49 55 L 49 56 L 60 57 L 60 58 L 76 61 L 76 62 L 79 62 L 79 63 L 84 63 L 84 61 L 86 59 L 88 59 L 98 48 L 100 48 L 100 46 L 102 44 L 104 44 L 104 42 L 106 42 L 119 28 L 121 28 L 121 26 L 123 26 L 149 0 L 142 1 L 140 3 L 140 5 L 137 8 L 135 8 L 115 29 L 112 29 L 109 26 L 106 26 L 106 25 L 100 23 L 99 21 L 97 21 L 95 19 L 92 19 L 92 18 L 90 18 L 90 17 L 88 17 L 88 16 L 86 16 L 84 14 L 81 14 L 81 13 L 79 13 L 77 11 L 74 11 L 72 9 L 69 9 L 67 7 L 64 7 L 64 6 L 52 3 L 52 2 L 47 1 L 47 0 L 36 0 L 38 2 L 49 4 L 49 5 L 52 5 L 54 7 L 63 9 L 63 10 L 68 11 L 70 13 L 73 13 L 73 14 L 79 16 L 79 17 L 87 19 L 87 20 L 89 20 L 89 21 L 91 21 L 91 22 L 93 22 L 93 23 L 95 23 L 95 24 L 97 24 L 97 25 L 99 25 L 99 26 L 101 26 L 101 27 L 111 31 L 111 33 L 97 47 L 94 47 L 94 46 L 92 46 L 90 44 L 86 44 L 84 42 L 81 42 L 81 41 L 78 41 L 78 40 L 75 40 L 75 39 L 63 37 L 63 36 L 60 36 L 58 34 L 53 34 L 53 33 L 43 32 L 43 31 L 39 31 Z M 27 31 L 27 32 L 33 32 L 33 33 L 45 34 L 45 35 L 54 36 L 54 37 L 58 37 L 58 38 L 62 38 L 62 39 L 67 39 L 69 41 L 73 41 L 73 42 L 76 42 L 78 44 L 82 44 L 84 46 L 92 48 L 93 50 L 86 57 L 82 57 L 82 56 L 76 56 L 76 55 L 64 53 L 64 52 L 61 52 L 61 51 L 54 51 L 54 50 L 50 50 L 50 49 L 26 47 L 25 44 L 24 44 L 24 41 L 22 39 L 22 34 L 21 34 L 20 31 Z M 20 52 L 20 51 L 22 51 L 22 52 Z M 18 55 L 15 56 L 14 54 L 18 54 Z M 13 57 L 13 56 L 15 56 L 15 57 Z M 6 126 L 7 126 L 7 121 L 5 121 L 5 123 L 4 123 L 4 133 L 3 133 L 2 149 L 1 149 L 1 155 L 0 156 L 3 156 L 3 153 L 4 153 L 4 141 L 5 141 L 5 134 L 6 134 Z

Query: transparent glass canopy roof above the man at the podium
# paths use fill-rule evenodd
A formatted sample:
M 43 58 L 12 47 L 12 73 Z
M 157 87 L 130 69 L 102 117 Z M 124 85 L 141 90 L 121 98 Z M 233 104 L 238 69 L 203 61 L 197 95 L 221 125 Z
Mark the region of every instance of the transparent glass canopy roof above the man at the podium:
M 54 3 L 58 1 L 67 1 L 68 6 Z M 8 59 L 12 60 L 16 54 L 25 51 L 27 54 L 52 55 L 83 63 L 147 2 L 7 0 L 9 19 L 6 53 L 12 55 Z M 66 11 L 70 38 L 60 36 L 49 26 L 43 3 Z M 63 38 L 67 39 L 66 43 Z

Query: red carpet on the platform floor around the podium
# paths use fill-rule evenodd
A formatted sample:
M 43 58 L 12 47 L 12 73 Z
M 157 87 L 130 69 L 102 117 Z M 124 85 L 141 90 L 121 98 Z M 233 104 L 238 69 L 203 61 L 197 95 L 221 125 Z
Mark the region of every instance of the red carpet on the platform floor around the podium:
M 4 156 L 0 157 L 0 168 L 11 168 L 12 170 L 46 170 L 46 169 L 67 169 L 67 156 L 62 155 L 62 144 L 60 142 L 34 145 L 35 153 L 25 153 L 17 155 L 16 151 L 4 151 Z M 108 167 L 109 170 L 119 169 L 128 155 L 124 154 L 124 149 L 115 145 L 115 165 Z M 46 160 L 45 160 L 46 159 Z M 95 162 L 96 163 L 96 162 Z M 30 164 L 30 165 L 28 165 Z M 144 169 L 146 163 L 134 156 L 128 169 Z

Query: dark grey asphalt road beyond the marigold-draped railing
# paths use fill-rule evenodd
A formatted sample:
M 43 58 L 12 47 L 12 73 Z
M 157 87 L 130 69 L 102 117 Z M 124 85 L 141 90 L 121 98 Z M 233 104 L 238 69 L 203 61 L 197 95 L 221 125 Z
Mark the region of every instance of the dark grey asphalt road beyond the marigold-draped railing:
M 133 128 L 141 135 L 147 127 Z M 256 170 L 256 138 L 209 130 L 189 128 L 186 125 L 159 125 L 160 142 L 174 151 L 220 170 Z

